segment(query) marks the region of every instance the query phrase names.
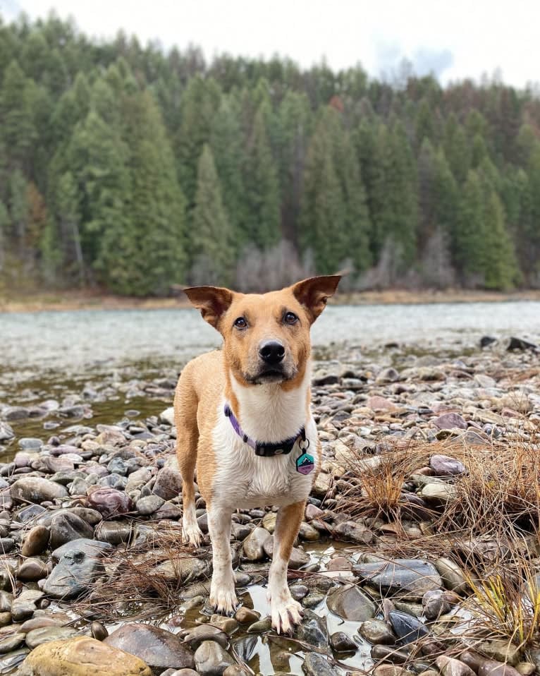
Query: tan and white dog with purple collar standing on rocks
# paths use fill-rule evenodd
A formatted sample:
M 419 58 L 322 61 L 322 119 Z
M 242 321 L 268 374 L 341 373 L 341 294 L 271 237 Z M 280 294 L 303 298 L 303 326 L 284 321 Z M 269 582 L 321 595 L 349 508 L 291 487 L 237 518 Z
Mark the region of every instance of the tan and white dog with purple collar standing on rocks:
M 231 557 L 236 509 L 278 507 L 268 599 L 272 627 L 288 634 L 302 620 L 287 569 L 305 504 L 321 466 L 310 410 L 310 327 L 340 275 L 312 277 L 267 294 L 216 286 L 184 289 L 202 318 L 221 333 L 221 350 L 183 369 L 174 409 L 182 476 L 183 536 L 198 547 L 197 485 L 208 514 L 213 574 L 210 605 L 233 615 L 238 606 Z

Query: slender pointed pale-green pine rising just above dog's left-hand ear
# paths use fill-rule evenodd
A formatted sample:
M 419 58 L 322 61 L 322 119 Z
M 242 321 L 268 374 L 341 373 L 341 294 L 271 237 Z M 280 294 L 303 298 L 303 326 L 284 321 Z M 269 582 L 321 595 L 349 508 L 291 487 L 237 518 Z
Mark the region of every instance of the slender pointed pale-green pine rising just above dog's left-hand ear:
M 197 168 L 197 193 L 192 217 L 193 283 L 231 284 L 233 230 L 229 224 L 214 157 L 207 143 Z

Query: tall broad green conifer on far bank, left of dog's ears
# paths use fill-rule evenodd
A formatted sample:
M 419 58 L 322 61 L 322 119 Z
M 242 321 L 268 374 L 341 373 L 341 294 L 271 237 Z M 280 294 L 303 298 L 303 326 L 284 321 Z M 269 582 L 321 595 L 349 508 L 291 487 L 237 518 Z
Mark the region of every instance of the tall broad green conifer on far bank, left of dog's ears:
M 163 121 L 149 92 L 123 100 L 130 194 L 103 231 L 96 267 L 113 291 L 164 294 L 185 271 L 185 199 Z

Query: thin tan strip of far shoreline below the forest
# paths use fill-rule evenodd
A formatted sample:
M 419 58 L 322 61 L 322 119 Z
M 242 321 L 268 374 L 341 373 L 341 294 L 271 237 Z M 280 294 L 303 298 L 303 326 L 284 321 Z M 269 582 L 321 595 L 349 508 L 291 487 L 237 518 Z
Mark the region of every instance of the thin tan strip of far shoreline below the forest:
M 497 291 L 361 291 L 341 293 L 331 300 L 333 305 L 429 305 L 433 303 L 501 303 L 511 301 L 540 301 L 540 289 L 501 293 Z M 24 313 L 64 310 L 173 310 L 190 308 L 181 295 L 166 298 L 137 298 L 114 296 L 92 291 L 63 291 L 41 294 L 14 294 L 0 296 L 0 313 Z

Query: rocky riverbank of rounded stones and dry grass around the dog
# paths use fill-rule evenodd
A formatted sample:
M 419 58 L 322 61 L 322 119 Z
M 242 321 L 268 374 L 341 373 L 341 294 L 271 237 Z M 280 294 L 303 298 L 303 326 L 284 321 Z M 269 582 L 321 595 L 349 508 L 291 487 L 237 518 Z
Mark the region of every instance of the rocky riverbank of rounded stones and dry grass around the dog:
M 264 598 L 272 509 L 235 514 L 243 605 L 207 611 L 208 539 L 180 545 L 162 403 L 174 378 L 1 403 L 0 674 L 540 673 L 539 354 L 482 345 L 315 364 L 324 464 L 291 560 L 305 620 L 288 638 Z M 100 423 L 119 393 L 154 414 Z

